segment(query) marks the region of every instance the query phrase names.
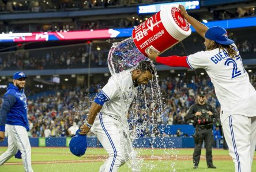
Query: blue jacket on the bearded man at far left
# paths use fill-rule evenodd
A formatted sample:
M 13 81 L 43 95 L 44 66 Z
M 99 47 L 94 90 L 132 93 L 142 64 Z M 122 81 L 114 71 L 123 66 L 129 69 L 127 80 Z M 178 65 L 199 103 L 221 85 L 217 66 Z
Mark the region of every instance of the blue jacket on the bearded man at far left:
M 0 113 L 0 131 L 5 131 L 5 124 L 23 126 L 29 131 L 27 117 L 27 97 L 23 89 L 9 84 L 3 97 Z

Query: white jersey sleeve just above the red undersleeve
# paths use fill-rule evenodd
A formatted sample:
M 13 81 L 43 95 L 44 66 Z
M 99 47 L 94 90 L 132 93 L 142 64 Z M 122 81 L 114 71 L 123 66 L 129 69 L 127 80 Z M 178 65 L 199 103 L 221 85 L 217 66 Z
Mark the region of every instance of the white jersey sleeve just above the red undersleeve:
M 187 64 L 191 69 L 208 68 L 209 60 L 206 52 L 201 51 L 187 56 Z

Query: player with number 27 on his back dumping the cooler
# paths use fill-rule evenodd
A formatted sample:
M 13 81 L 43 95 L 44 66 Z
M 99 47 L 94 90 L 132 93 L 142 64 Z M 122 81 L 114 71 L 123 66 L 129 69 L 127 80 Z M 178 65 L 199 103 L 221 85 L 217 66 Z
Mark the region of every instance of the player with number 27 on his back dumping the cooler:
M 179 5 L 179 9 L 205 38 L 206 50 L 184 57 L 157 57 L 153 49 L 147 54 L 151 60 L 171 67 L 205 69 L 221 104 L 221 123 L 235 171 L 251 171 L 256 144 L 256 91 L 244 70 L 239 51 L 224 28 L 208 28 L 188 15 L 184 6 Z

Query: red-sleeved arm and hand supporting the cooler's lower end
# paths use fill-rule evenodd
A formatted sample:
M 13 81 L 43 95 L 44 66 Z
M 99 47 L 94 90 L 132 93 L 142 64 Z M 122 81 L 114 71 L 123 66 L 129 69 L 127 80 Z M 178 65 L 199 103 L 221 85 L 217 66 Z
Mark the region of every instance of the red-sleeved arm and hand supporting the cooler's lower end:
M 168 65 L 170 67 L 185 67 L 190 68 L 187 63 L 187 56 L 168 56 L 168 57 L 159 57 L 157 52 L 153 49 L 149 49 L 146 54 L 150 60 L 154 60 L 160 64 Z

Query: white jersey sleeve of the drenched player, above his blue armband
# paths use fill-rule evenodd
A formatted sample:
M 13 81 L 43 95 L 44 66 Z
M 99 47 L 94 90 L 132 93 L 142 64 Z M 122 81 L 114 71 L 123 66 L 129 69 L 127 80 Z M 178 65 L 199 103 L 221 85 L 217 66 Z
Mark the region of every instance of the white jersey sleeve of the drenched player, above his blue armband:
M 118 87 L 113 77 L 110 77 L 108 83 L 101 89 L 101 92 L 107 97 L 108 101 L 118 96 Z

